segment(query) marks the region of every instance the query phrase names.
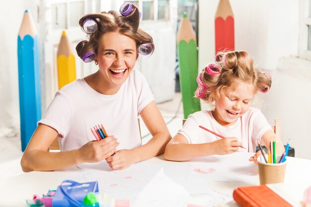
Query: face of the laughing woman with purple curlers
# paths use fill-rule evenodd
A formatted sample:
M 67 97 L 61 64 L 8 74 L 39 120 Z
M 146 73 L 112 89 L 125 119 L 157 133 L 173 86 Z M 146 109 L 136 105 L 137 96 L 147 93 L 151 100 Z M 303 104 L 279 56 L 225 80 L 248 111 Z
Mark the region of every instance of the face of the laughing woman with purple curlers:
M 109 90 L 119 90 L 133 70 L 136 59 L 136 43 L 130 37 L 118 32 L 101 37 L 96 61 Z

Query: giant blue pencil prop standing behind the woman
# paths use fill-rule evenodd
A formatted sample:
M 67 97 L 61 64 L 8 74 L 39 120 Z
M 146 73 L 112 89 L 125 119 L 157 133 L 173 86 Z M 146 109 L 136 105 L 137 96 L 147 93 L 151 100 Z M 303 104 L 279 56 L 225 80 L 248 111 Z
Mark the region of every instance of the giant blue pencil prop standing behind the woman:
M 24 151 L 41 118 L 38 35 L 28 10 L 18 32 L 17 56 L 20 139 Z

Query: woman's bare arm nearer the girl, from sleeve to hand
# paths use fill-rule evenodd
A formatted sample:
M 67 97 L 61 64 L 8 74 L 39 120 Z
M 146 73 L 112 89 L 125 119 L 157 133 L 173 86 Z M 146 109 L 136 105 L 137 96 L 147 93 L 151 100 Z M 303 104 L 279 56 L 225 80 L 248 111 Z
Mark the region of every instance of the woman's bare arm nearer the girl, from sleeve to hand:
M 154 101 L 142 110 L 141 117 L 153 138 L 140 147 L 129 150 L 121 149 L 113 156 L 108 157 L 106 161 L 112 169 L 124 169 L 136 162 L 152 158 L 164 152 L 171 136 Z

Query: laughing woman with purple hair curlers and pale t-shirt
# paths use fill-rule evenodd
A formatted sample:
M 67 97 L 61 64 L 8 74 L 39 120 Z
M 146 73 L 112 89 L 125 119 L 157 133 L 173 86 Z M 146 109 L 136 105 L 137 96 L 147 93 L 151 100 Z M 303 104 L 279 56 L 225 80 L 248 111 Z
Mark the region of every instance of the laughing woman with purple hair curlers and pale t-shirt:
M 153 52 L 153 39 L 139 28 L 135 5 L 125 3 L 120 13 L 80 19 L 89 40 L 78 44 L 78 56 L 86 63 L 94 61 L 98 71 L 56 93 L 22 156 L 24 172 L 103 159 L 112 169 L 124 169 L 164 152 L 171 137 L 146 79 L 134 69 L 139 53 Z M 143 146 L 139 115 L 153 136 Z M 90 129 L 101 124 L 110 136 L 96 141 Z M 61 151 L 49 152 L 55 138 Z

